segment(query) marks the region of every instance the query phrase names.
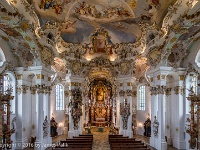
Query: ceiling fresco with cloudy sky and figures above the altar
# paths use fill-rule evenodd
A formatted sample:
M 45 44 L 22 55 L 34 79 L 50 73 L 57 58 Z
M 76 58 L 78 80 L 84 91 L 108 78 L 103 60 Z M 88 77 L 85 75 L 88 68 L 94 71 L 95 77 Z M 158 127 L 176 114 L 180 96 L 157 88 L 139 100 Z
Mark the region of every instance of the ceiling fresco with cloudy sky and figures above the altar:
M 113 43 L 134 43 L 141 37 L 139 22 L 153 22 L 159 0 L 33 0 L 41 26 L 60 24 L 69 43 L 88 43 L 97 28 L 104 28 Z

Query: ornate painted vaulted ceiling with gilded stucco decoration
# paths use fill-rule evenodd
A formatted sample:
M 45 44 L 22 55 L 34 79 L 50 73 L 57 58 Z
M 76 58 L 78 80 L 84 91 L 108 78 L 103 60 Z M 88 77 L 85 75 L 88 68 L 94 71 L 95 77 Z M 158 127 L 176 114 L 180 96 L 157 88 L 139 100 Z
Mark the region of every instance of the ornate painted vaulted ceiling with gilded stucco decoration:
M 177 67 L 199 39 L 198 0 L 2 0 L 0 34 L 22 66 L 144 79 Z

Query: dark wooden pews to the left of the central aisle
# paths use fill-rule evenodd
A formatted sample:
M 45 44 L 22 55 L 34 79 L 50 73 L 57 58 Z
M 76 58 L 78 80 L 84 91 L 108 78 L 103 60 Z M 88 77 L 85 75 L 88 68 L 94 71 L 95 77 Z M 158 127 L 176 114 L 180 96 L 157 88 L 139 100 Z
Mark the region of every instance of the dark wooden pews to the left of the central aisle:
M 74 136 L 72 139 L 60 141 L 56 146 L 56 150 L 91 150 L 93 143 L 93 135 L 81 134 Z

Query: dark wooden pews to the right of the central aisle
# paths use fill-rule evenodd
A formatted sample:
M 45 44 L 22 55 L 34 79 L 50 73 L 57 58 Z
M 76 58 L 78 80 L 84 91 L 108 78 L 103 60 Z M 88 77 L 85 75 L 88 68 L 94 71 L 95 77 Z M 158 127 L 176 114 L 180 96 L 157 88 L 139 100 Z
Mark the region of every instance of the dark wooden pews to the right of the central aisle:
M 150 150 L 141 141 L 123 135 L 108 135 L 111 150 Z

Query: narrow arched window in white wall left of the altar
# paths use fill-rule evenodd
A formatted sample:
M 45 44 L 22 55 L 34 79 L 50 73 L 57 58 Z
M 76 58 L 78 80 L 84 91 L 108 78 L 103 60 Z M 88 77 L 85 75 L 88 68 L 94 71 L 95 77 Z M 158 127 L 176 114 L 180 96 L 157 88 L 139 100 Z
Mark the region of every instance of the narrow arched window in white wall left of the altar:
M 56 85 L 56 110 L 64 110 L 64 88 L 62 85 Z

